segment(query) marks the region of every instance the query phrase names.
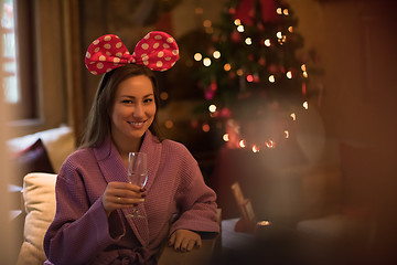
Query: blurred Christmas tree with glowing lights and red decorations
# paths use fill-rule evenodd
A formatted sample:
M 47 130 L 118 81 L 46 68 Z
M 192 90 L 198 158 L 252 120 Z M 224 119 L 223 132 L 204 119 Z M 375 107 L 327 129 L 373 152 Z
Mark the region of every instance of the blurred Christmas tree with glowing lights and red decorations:
M 195 77 L 211 116 L 225 121 L 230 147 L 275 148 L 293 134 L 294 112 L 308 108 L 297 24 L 282 0 L 228 0 L 217 24 L 204 21 Z

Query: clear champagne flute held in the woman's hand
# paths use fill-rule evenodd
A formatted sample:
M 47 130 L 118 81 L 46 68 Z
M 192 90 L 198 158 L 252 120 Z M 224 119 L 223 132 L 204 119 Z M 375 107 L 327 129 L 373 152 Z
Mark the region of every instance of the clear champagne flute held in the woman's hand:
M 128 181 L 143 188 L 148 181 L 148 156 L 146 152 L 128 153 Z M 144 218 L 137 208 L 133 208 L 130 218 Z

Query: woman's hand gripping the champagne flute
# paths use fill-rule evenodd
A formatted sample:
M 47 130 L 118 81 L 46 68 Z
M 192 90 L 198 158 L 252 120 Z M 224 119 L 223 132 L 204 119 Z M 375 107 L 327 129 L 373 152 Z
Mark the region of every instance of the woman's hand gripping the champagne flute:
M 109 182 L 106 187 L 101 201 L 107 216 L 117 209 L 132 208 L 144 202 L 144 189 L 128 182 Z

